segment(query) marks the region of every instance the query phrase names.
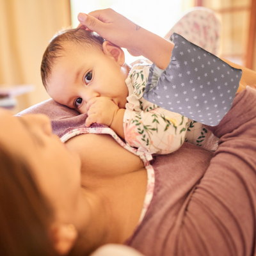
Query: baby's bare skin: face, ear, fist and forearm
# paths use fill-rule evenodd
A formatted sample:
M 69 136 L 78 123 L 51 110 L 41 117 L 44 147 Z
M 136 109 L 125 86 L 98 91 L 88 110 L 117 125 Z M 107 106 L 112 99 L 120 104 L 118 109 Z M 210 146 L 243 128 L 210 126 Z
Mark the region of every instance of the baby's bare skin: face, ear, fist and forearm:
M 106 41 L 102 49 L 63 45 L 47 84 L 47 92 L 60 104 L 88 113 L 86 125 L 106 124 L 124 138 L 123 118 L 128 88 L 125 79 L 131 66 L 124 51 Z

